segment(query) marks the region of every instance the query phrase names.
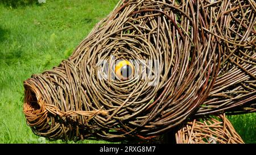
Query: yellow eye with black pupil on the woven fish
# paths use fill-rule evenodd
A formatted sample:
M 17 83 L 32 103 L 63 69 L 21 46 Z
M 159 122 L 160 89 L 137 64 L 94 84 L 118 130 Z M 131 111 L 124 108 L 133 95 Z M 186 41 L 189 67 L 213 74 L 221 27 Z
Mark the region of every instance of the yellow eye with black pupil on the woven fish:
M 117 76 L 121 80 L 126 80 L 132 77 L 134 74 L 133 65 L 127 61 L 122 60 L 115 65 L 115 76 Z

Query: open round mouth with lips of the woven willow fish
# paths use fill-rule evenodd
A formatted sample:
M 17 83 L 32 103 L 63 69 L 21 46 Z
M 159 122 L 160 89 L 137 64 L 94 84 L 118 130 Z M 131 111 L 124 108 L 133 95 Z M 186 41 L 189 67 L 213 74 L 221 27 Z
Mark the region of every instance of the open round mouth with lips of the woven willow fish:
M 23 113 L 32 132 L 49 140 L 63 139 L 63 134 L 59 137 L 56 136 L 56 132 L 62 131 L 62 128 L 57 122 L 58 116 L 51 114 L 48 110 L 47 97 L 44 94 L 46 88 L 40 85 L 40 81 L 36 77 L 28 78 L 24 81 L 23 86 Z

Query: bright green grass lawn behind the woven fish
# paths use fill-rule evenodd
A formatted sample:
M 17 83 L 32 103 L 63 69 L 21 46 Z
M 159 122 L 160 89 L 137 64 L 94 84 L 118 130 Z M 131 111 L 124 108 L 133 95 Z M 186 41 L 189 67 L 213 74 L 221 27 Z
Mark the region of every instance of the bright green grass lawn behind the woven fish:
M 23 81 L 71 55 L 117 2 L 47 0 L 16 8 L 0 2 L 0 143 L 65 143 L 35 136 L 26 125 Z M 256 143 L 256 114 L 229 118 L 246 143 Z

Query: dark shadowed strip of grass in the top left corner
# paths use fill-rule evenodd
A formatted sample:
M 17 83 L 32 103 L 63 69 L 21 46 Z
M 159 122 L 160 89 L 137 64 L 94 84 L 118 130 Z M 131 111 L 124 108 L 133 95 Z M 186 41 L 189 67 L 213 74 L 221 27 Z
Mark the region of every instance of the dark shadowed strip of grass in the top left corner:
M 6 7 L 15 8 L 19 6 L 38 4 L 38 0 L 1 0 L 0 4 L 3 4 Z

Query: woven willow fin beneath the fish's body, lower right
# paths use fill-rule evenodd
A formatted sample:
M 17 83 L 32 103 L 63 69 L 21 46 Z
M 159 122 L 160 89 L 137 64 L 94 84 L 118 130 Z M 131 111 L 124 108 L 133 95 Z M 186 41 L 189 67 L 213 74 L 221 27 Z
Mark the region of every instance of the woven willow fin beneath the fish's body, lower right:
M 242 144 L 243 140 L 234 130 L 225 115 L 216 119 L 195 119 L 187 123 L 176 134 L 177 144 Z

